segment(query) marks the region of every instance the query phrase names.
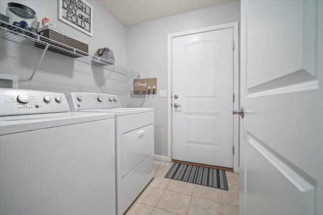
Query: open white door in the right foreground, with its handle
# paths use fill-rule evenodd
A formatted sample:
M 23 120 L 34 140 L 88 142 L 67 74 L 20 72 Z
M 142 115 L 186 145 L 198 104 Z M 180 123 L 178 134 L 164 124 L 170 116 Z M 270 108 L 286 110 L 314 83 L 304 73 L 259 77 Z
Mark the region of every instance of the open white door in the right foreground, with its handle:
M 322 9 L 241 3 L 240 214 L 323 214 Z

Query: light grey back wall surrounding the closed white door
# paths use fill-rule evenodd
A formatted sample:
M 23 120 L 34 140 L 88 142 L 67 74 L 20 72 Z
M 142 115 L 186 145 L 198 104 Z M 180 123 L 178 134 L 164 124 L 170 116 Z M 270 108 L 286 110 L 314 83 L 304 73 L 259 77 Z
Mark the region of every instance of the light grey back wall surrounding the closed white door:
M 140 71 L 141 78 L 156 77 L 157 90 L 168 89 L 167 35 L 236 21 L 240 21 L 240 1 L 128 26 L 128 66 Z M 155 155 L 167 156 L 167 98 L 157 93 L 144 101 L 129 99 L 128 105 L 154 108 Z

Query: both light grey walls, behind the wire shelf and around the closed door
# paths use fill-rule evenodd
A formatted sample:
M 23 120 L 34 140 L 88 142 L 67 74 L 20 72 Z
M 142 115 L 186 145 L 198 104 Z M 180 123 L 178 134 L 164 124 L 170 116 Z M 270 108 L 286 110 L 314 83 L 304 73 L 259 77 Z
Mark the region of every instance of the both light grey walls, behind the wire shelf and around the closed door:
M 111 48 L 116 62 L 142 73 L 141 78 L 157 78 L 157 90 L 168 89 L 167 35 L 190 29 L 240 21 L 240 1 L 191 11 L 146 23 L 124 26 L 93 0 L 93 37 L 58 21 L 57 0 L 1 0 L 0 12 L 6 14 L 7 4 L 17 2 L 32 8 L 38 21 L 50 19 L 57 27 L 89 41 L 89 53 L 101 47 Z M 7 40 L 0 43 L 0 73 L 19 76 L 19 88 L 54 92 L 102 92 L 116 94 L 122 106 L 153 107 L 155 110 L 155 154 L 167 156 L 167 98 L 159 95 L 146 99 L 130 99 L 132 79 L 114 74 L 102 86 L 108 71 L 70 57 L 46 52 L 29 85 L 29 78 L 42 50 L 18 45 Z

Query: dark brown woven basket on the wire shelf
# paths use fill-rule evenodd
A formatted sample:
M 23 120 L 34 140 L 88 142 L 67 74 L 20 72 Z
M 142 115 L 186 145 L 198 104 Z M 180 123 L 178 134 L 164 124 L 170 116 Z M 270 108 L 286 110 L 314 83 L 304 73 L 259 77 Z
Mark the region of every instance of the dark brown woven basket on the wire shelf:
M 38 34 L 41 35 L 41 36 L 47 37 L 49 39 L 58 41 L 60 43 L 63 43 L 65 45 L 71 46 L 71 47 L 77 49 L 77 50 L 75 50 L 76 53 L 84 55 L 84 56 L 88 56 L 88 54 L 87 54 L 87 52 L 88 52 L 88 44 L 85 44 L 85 43 L 83 43 L 81 41 L 75 40 L 75 39 L 73 39 L 71 37 L 65 36 L 64 34 L 60 34 L 60 33 L 56 32 L 56 31 L 52 31 L 50 29 L 45 29 L 43 31 L 40 31 L 40 32 L 38 32 Z M 52 41 L 47 40 L 45 38 L 40 38 L 40 40 L 62 48 L 62 49 L 58 49 L 58 48 L 49 46 L 48 51 L 56 52 L 56 53 L 63 54 L 63 55 L 69 56 L 69 57 L 74 57 L 74 58 L 80 57 L 80 55 L 78 55 L 78 54 L 73 54 L 71 52 L 64 51 L 64 49 L 65 49 L 65 50 L 69 50 L 69 51 L 74 52 L 73 48 L 61 45 L 59 43 L 52 42 Z M 38 43 L 38 44 L 35 44 L 35 46 L 38 47 L 38 48 L 45 48 L 44 44 L 39 44 Z M 84 51 L 86 53 L 81 52 L 79 50 Z

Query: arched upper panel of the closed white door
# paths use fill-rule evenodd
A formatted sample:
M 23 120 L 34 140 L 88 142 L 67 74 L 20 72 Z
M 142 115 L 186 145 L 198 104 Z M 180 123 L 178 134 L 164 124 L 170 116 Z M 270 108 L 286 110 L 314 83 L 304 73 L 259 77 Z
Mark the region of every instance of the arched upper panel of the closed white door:
M 220 101 L 220 41 L 188 43 L 182 54 L 183 101 Z

